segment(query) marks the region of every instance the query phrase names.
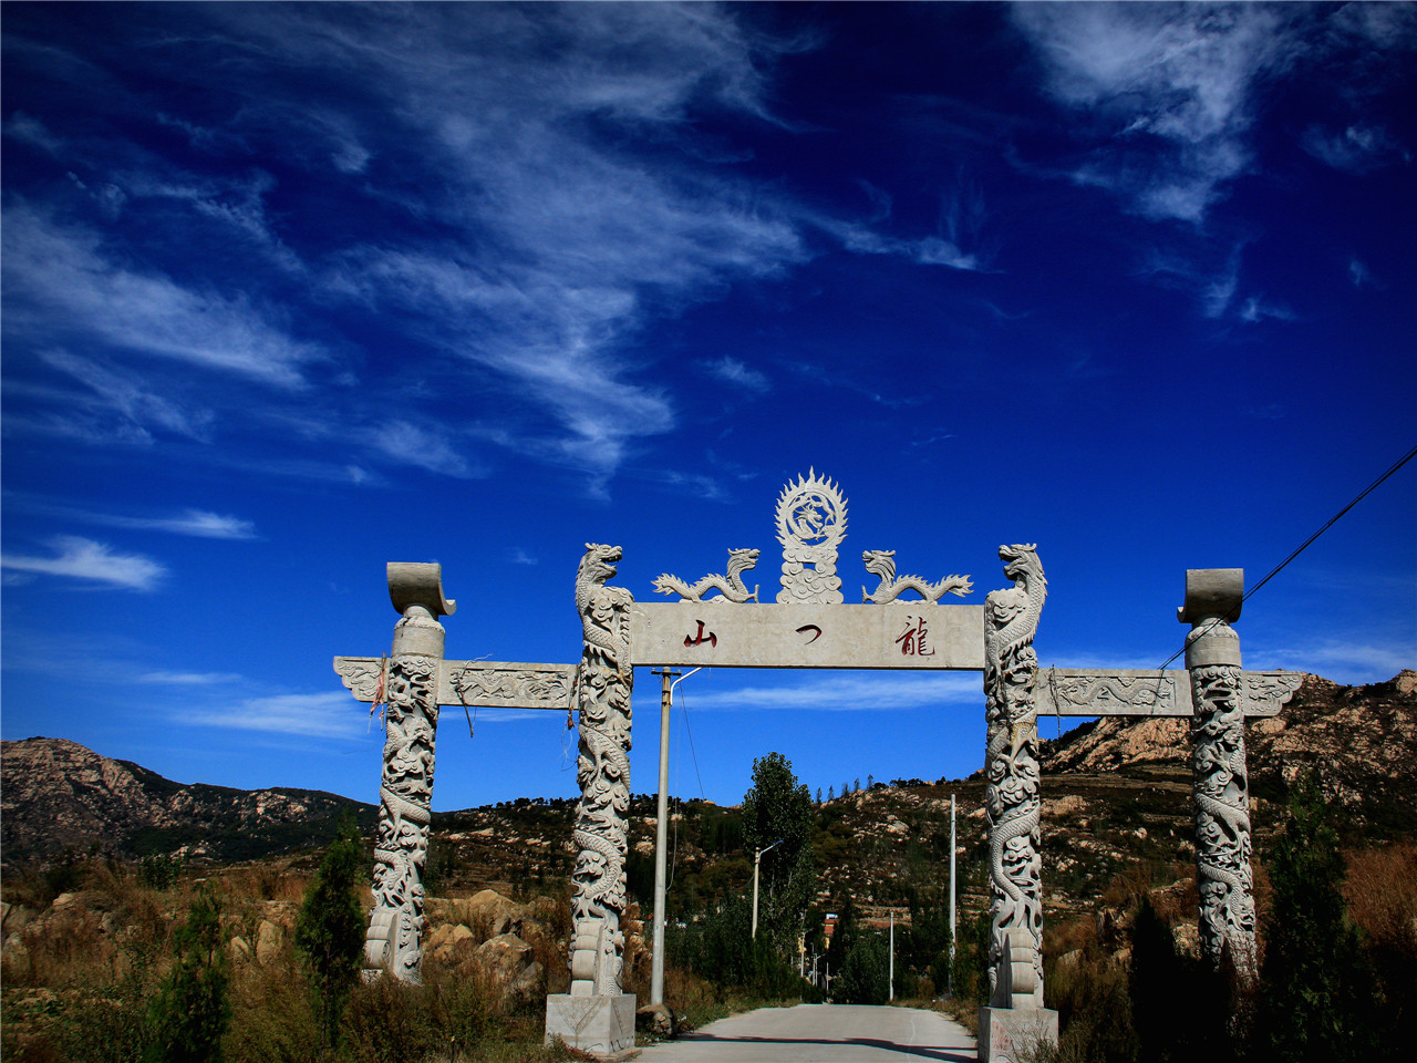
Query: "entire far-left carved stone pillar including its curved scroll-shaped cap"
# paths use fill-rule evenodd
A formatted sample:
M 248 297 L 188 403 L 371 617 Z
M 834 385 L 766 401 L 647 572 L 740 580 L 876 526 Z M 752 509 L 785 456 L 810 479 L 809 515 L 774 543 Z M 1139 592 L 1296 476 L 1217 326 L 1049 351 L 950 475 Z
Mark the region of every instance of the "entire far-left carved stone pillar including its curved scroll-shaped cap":
M 388 597 L 400 612 L 383 676 L 387 726 L 374 843 L 374 909 L 364 940 L 364 977 L 388 971 L 419 981 L 424 934 L 424 860 L 428 857 L 438 733 L 438 669 L 444 628 L 456 602 L 442 594 L 442 567 L 388 564 Z M 376 694 L 376 700 L 380 700 Z

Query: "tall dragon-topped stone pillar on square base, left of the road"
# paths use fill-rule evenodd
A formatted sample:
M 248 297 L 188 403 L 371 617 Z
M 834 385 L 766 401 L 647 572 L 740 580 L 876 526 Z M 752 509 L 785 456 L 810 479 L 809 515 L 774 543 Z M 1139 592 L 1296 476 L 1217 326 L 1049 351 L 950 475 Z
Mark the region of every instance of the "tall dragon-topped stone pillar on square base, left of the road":
M 625 934 L 625 852 L 629 808 L 631 692 L 629 591 L 606 587 L 618 546 L 587 543 L 575 577 L 584 651 L 575 702 L 581 714 L 575 777 L 580 853 L 571 873 L 571 992 L 546 999 L 546 1040 L 560 1037 L 592 1056 L 635 1047 L 635 996 L 621 992 Z

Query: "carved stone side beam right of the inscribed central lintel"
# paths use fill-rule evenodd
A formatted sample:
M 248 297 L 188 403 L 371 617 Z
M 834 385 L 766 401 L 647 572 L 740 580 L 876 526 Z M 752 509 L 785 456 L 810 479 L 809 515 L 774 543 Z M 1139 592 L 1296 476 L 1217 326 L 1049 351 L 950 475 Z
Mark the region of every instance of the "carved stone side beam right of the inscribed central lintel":
M 1246 716 L 1277 716 L 1304 682 L 1302 672 L 1241 672 Z M 1040 668 L 1039 716 L 1193 716 L 1190 673 Z

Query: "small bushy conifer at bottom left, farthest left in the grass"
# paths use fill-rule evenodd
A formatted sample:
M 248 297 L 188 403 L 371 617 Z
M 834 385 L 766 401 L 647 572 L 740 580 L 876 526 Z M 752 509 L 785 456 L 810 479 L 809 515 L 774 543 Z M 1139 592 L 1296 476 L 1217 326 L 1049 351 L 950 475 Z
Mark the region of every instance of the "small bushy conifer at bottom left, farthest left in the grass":
M 152 1063 L 221 1059 L 221 1035 L 231 1020 L 227 957 L 221 948 L 221 903 L 203 886 L 174 934 L 177 958 L 147 1006 Z

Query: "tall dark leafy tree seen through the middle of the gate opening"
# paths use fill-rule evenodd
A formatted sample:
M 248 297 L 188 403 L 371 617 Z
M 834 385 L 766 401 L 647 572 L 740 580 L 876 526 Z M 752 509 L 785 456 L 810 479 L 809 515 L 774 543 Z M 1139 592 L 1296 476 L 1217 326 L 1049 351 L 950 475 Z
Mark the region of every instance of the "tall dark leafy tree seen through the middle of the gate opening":
M 752 761 L 752 788 L 743 795 L 744 855 L 778 840 L 760 866 L 758 933 L 791 935 L 795 947 L 815 884 L 812 794 L 792 774 L 792 761 L 769 753 Z

